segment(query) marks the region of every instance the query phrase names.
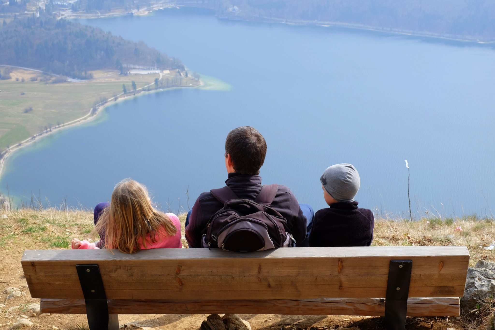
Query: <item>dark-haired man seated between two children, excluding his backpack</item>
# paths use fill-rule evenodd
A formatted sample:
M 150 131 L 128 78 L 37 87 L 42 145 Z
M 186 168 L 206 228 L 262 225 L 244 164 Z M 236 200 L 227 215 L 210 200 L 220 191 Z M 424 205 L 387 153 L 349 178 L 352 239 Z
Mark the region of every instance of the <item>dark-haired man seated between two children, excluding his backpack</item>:
M 265 161 L 265 155 L 265 139 L 254 128 L 238 127 L 228 134 L 225 141 L 225 167 L 228 179 L 225 184 L 239 198 L 254 200 L 263 187 L 258 174 Z M 313 219 L 311 206 L 305 204 L 299 206 L 289 188 L 278 186 L 278 192 L 270 207 L 287 220 L 286 230 L 299 243 L 297 246 L 308 246 L 306 228 L 310 230 Z M 203 234 L 206 234 L 208 221 L 221 208 L 223 204 L 209 191 L 199 195 L 186 219 L 186 239 L 189 247 L 202 247 L 201 239 Z

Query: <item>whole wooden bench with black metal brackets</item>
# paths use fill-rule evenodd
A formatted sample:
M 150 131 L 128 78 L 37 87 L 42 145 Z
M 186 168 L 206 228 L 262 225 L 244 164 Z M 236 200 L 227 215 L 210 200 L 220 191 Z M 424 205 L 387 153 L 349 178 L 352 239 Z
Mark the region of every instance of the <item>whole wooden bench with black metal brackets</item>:
M 404 330 L 406 314 L 459 315 L 469 253 L 465 246 L 26 250 L 21 262 L 43 313 L 87 314 L 91 330 L 118 329 L 118 314 L 206 313 L 385 316 L 386 329 Z

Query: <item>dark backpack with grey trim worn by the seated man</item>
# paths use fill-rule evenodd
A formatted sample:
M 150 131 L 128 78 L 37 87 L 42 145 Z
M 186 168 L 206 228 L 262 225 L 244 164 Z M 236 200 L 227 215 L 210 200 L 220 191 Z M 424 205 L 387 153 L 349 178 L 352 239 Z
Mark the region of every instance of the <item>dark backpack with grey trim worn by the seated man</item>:
M 208 222 L 203 247 L 252 252 L 290 247 L 296 242 L 286 232 L 287 220 L 272 209 L 278 185 L 263 186 L 254 200 L 241 199 L 229 187 L 210 190 L 224 204 Z

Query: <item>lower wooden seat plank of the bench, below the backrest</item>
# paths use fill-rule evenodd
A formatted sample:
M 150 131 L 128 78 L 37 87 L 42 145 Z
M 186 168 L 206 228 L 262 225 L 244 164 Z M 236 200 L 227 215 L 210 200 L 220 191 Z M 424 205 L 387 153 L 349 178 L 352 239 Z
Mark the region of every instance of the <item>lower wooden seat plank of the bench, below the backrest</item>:
M 42 313 L 86 314 L 84 299 L 41 299 Z M 283 314 L 384 316 L 385 299 L 108 300 L 110 314 Z M 459 298 L 409 298 L 407 316 L 458 316 Z

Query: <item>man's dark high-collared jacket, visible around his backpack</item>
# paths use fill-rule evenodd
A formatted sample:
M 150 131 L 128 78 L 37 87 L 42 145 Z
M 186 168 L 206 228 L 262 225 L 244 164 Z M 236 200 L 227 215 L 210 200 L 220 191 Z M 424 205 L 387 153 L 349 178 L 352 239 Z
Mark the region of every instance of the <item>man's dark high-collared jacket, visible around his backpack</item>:
M 234 190 L 239 198 L 254 200 L 261 190 L 259 175 L 229 174 L 225 184 Z M 206 234 L 206 226 L 211 216 L 223 207 L 213 195 L 203 192 L 194 203 L 189 225 L 186 227 L 186 239 L 189 247 L 201 247 L 201 236 Z M 278 193 L 270 205 L 287 220 L 287 232 L 292 234 L 296 241 L 303 241 L 306 237 L 306 217 L 297 202 L 296 196 L 286 186 L 279 186 Z

